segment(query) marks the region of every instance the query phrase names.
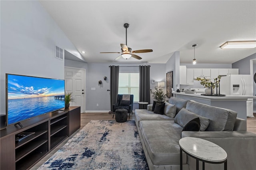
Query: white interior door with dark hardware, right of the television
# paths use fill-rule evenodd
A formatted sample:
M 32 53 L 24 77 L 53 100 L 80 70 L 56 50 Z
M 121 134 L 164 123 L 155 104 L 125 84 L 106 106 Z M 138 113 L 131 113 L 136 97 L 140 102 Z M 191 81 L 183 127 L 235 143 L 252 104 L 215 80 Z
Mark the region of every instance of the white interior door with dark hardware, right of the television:
M 80 106 L 81 113 L 85 110 L 85 70 L 65 67 L 65 90 L 72 92 L 74 102 L 70 106 Z

